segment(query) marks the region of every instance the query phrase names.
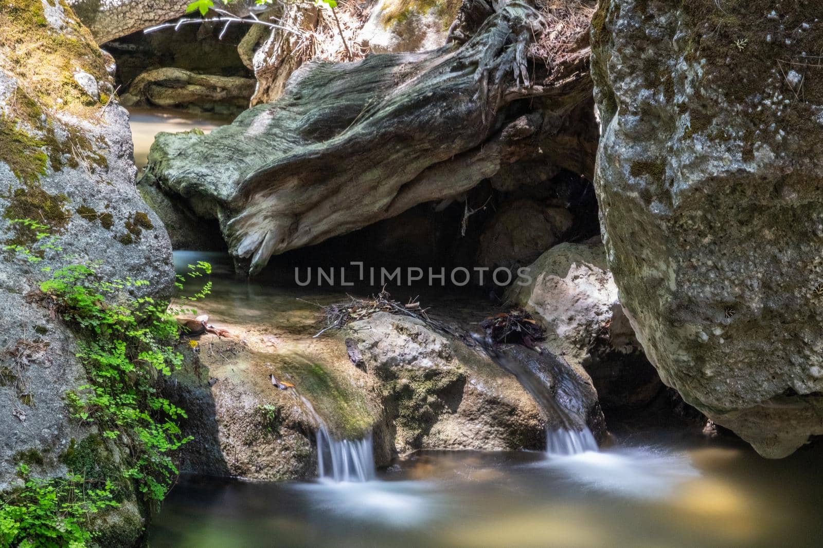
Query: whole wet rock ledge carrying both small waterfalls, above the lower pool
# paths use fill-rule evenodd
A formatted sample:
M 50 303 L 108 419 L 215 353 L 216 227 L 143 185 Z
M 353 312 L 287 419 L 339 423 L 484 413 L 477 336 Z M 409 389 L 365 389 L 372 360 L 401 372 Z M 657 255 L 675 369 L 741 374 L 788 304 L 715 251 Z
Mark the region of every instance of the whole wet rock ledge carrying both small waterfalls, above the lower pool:
M 559 428 L 562 420 L 546 412 L 518 373 L 529 373 L 534 388 L 550 405 L 560 403 L 575 425 L 591 426 L 598 438 L 605 434 L 588 375 L 547 352 L 505 345 L 506 361 L 496 361 L 461 338 L 387 312 L 314 338 L 326 320 L 310 302 L 335 297 L 295 301 L 291 292 L 250 288 L 255 311 L 249 311 L 225 298 L 239 291 L 235 283 L 218 284 L 202 303 L 198 313 L 230 336 L 192 337 L 195 353 L 164 389 L 188 410 L 183 429 L 195 437 L 181 449 L 184 471 L 314 477 L 318 418 L 337 439 L 372 434 L 378 466 L 416 449 L 542 450 L 546 426 Z M 268 311 L 266 320 L 261 311 Z M 463 315 L 482 314 L 470 306 L 448 321 L 463 325 Z M 507 371 L 506 364 L 521 371 Z

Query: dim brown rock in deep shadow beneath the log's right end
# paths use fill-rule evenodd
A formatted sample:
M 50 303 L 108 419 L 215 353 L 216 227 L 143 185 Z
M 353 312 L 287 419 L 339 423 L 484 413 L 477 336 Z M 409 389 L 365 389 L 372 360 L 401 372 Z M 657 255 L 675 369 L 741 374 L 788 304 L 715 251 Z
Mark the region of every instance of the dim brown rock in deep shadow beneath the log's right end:
M 534 200 L 504 204 L 480 237 L 477 264 L 489 268 L 528 265 L 571 228 L 572 214 Z

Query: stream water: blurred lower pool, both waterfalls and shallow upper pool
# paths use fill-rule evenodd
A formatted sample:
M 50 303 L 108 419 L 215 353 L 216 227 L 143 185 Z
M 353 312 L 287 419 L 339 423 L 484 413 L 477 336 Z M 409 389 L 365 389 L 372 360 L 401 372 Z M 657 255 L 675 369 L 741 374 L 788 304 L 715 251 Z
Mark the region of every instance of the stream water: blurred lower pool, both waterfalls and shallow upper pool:
M 230 279 L 223 259 L 175 253 L 179 267 L 215 263 L 216 320 L 305 329 L 316 314 L 306 301 L 340 297 Z M 539 375 L 523 371 L 518 378 L 539 394 Z M 588 430 L 547 434 L 546 453 L 421 452 L 375 472 L 369 437 L 337 440 L 321 427 L 321 481 L 184 476 L 148 540 L 153 548 L 821 546 L 821 448 L 768 461 L 740 442 L 679 431 L 641 432 L 599 452 Z

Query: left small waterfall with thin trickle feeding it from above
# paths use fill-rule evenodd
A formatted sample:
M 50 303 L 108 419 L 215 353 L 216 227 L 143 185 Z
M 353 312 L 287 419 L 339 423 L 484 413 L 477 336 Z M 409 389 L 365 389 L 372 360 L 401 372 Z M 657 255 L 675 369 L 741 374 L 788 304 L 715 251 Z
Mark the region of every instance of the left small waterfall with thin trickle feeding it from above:
M 362 440 L 337 440 L 326 423 L 314 411 L 308 399 L 300 396 L 303 405 L 317 421 L 317 475 L 320 479 L 341 481 L 372 481 L 376 476 L 374 445 L 371 433 Z

